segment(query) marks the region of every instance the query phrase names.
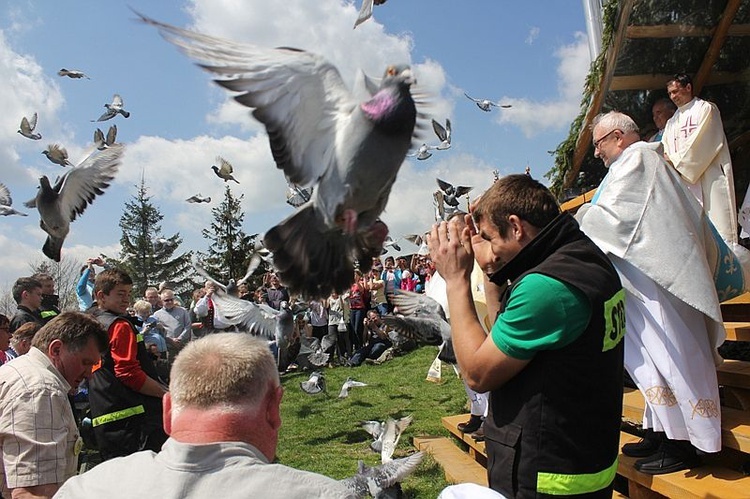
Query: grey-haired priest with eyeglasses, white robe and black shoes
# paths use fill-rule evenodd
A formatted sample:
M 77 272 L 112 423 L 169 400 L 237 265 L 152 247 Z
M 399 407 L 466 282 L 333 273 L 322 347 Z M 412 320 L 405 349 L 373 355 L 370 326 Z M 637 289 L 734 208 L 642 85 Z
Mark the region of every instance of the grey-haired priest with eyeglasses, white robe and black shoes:
M 641 458 L 642 473 L 683 470 L 699 464 L 696 448 L 721 450 L 717 289 L 742 292 L 745 279 L 659 143 L 642 142 L 635 122 L 614 111 L 594 119 L 593 139 L 609 172 L 577 217 L 620 273 L 625 367 L 646 398 L 646 437 L 622 450 Z M 724 256 L 733 274 L 718 268 Z

